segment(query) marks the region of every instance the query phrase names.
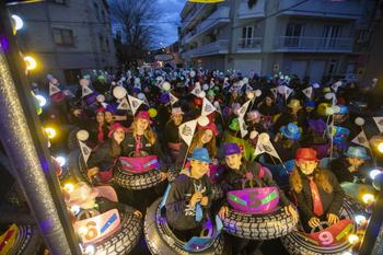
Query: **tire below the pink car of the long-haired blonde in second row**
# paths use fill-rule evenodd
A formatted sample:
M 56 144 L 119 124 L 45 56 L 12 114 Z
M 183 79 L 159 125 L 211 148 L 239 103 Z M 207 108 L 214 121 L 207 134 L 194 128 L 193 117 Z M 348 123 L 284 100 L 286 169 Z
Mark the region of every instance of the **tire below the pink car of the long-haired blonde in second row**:
M 114 181 L 120 187 L 140 190 L 162 183 L 160 173 L 160 170 L 151 170 L 143 174 L 130 174 L 117 167 L 114 172 Z

